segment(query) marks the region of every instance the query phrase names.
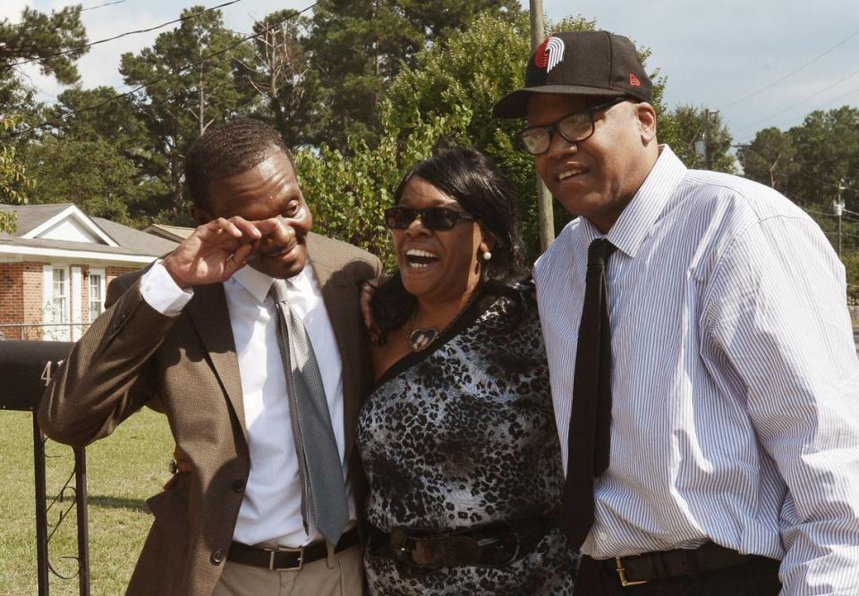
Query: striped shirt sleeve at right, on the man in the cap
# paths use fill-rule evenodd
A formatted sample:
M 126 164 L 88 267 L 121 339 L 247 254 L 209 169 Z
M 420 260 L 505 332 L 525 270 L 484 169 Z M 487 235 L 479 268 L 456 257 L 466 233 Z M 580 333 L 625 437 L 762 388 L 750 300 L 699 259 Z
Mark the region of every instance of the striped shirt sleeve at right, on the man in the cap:
M 719 265 L 712 329 L 787 484 L 786 596 L 859 594 L 859 361 L 844 267 L 810 221 L 770 218 Z

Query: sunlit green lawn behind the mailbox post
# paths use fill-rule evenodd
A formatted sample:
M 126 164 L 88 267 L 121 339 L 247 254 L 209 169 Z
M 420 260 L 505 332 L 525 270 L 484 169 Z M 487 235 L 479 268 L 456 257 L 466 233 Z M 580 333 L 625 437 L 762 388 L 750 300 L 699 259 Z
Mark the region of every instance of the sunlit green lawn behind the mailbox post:
M 48 502 L 72 473 L 72 449 L 47 442 Z M 0 410 L 0 596 L 36 594 L 36 523 L 32 415 Z M 135 414 L 108 438 L 87 449 L 89 575 L 93 596 L 123 594 L 152 517 L 146 499 L 169 477 L 173 440 L 166 418 L 148 409 Z M 58 457 L 50 457 L 58 456 Z M 56 504 L 48 514 L 55 523 Z M 50 560 L 63 575 L 75 572 L 74 509 L 51 540 Z M 51 575 L 52 596 L 78 594 L 78 580 Z

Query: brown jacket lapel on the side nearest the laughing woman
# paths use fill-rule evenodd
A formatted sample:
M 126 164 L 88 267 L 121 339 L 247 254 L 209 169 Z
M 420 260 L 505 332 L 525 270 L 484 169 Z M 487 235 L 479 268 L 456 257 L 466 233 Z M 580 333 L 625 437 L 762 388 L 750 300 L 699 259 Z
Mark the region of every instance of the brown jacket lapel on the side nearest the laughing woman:
M 334 330 L 340 361 L 343 365 L 343 424 L 345 437 L 345 457 L 352 454 L 355 436 L 355 423 L 358 407 L 361 405 L 361 376 L 358 367 L 361 363 L 361 329 L 358 327 L 358 291 L 350 288 L 344 279 L 336 275 L 342 266 L 342 259 L 329 254 L 331 247 L 326 246 L 325 238 L 316 234 L 307 237 L 307 252 L 313 271 L 316 273 L 325 309 Z

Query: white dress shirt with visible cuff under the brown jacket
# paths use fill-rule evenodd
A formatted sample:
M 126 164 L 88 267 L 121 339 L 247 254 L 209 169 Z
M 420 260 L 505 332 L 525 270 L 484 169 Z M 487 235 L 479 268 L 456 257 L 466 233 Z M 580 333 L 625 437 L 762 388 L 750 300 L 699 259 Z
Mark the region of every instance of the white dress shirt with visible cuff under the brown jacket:
M 293 312 L 307 329 L 319 362 L 328 411 L 334 426 L 340 459 L 344 460 L 343 363 L 319 282 L 310 264 L 286 280 Z M 286 396 L 284 364 L 277 347 L 276 310 L 268 290 L 272 278 L 250 266 L 242 267 L 224 283 L 226 304 L 233 329 L 242 404 L 251 453 L 251 474 L 239 509 L 233 538 L 245 544 L 260 542 L 298 547 L 321 539 L 309 521 L 302 521 L 302 482 Z M 147 303 L 165 315 L 177 315 L 193 296 L 181 290 L 160 263 L 141 279 L 140 293 Z M 347 466 L 344 462 L 344 477 Z M 349 510 L 355 518 L 351 490 Z

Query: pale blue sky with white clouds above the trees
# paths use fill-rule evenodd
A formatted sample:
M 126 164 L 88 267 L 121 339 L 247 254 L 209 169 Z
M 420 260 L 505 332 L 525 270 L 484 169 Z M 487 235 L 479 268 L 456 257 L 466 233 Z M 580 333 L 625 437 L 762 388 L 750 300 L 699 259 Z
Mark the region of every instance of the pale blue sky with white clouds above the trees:
M 111 1 L 79 0 L 84 8 Z M 94 41 L 173 21 L 183 7 L 224 1 L 123 0 L 87 10 L 83 21 Z M 0 0 L 0 19 L 16 21 L 26 5 L 49 11 L 67 4 L 79 3 Z M 312 0 L 241 0 L 222 12 L 228 27 L 249 32 L 254 19 L 309 4 Z M 523 6 L 527 9 L 528 2 Z M 543 10 L 553 21 L 580 14 L 650 48 L 648 70 L 659 69 L 668 78 L 668 107 L 718 110 L 738 144 L 766 127 L 800 124 L 813 110 L 859 106 L 856 0 L 543 0 Z M 78 64 L 82 84 L 124 89 L 119 56 L 151 45 L 158 32 L 93 46 Z M 40 99 L 50 101 L 62 91 L 37 71 L 27 73 Z

